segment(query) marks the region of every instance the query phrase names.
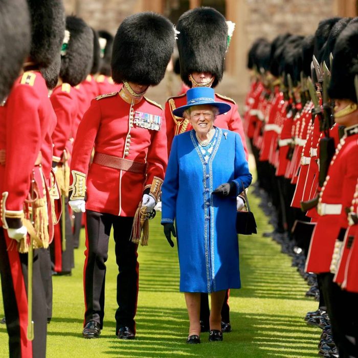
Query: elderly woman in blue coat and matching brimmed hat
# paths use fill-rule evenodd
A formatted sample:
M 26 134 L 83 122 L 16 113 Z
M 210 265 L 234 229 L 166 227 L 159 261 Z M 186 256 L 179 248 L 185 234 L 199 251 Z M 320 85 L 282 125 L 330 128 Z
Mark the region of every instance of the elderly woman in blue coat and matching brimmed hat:
M 222 341 L 226 290 L 240 288 L 236 197 L 252 175 L 240 136 L 214 126 L 215 117 L 229 109 L 215 102 L 212 88 L 196 87 L 188 90 L 187 105 L 173 111 L 193 127 L 174 137 L 162 186 L 162 225 L 172 247 L 171 234 L 177 236 L 187 343 L 200 343 L 200 293 L 211 293 L 209 341 Z

